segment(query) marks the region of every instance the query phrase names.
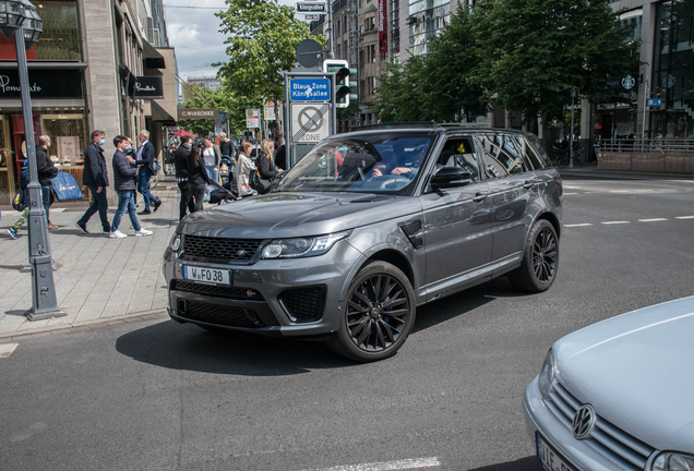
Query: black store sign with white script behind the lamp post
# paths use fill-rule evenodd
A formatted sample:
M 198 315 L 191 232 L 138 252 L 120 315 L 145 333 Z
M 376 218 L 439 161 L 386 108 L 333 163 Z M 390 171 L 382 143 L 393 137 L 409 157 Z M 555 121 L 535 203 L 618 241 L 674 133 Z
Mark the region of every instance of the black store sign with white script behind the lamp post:
M 82 71 L 29 69 L 32 98 L 82 98 Z M 0 98 L 21 98 L 16 70 L 0 69 Z

